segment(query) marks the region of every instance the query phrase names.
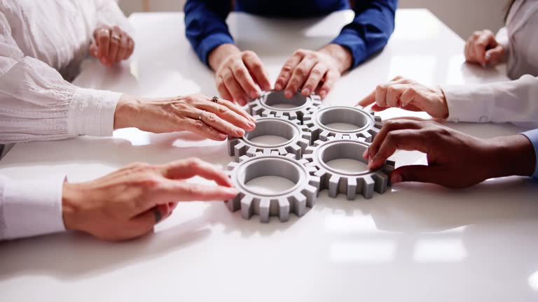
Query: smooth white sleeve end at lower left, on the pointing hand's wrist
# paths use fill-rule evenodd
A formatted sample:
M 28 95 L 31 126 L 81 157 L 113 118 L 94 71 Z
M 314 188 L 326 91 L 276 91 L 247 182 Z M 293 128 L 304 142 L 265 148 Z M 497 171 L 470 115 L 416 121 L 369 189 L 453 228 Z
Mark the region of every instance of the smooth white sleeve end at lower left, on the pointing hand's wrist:
M 11 180 L 0 175 L 0 240 L 64 231 L 64 179 L 65 175 L 53 175 L 42 180 Z

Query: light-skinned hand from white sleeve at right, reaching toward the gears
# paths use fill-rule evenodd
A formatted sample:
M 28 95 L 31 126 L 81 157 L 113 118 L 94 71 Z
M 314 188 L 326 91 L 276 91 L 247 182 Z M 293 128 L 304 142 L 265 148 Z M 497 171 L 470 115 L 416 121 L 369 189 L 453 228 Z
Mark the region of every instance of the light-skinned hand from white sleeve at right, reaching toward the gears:
M 375 103 L 372 106 L 373 111 L 396 107 L 410 111 L 425 111 L 437 118 L 448 117 L 448 105 L 441 88 L 427 87 L 400 76 L 390 82 L 378 85 L 357 105 L 366 107 L 371 103 Z

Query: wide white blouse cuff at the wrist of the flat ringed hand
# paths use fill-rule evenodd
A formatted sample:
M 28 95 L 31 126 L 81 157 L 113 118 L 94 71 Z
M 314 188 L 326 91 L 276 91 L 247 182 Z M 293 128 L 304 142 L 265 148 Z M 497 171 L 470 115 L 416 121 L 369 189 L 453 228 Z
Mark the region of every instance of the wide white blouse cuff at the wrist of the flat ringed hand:
M 122 94 L 106 90 L 78 88 L 67 112 L 70 136 L 111 136 L 114 112 Z

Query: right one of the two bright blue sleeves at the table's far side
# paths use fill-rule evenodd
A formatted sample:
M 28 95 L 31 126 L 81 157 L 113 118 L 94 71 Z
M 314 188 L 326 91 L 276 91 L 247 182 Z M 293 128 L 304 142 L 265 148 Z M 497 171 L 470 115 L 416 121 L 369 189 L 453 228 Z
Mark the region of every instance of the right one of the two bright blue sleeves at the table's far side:
M 394 31 L 398 0 L 355 0 L 353 22 L 347 24 L 332 43 L 350 50 L 352 67 L 368 59 L 387 45 Z

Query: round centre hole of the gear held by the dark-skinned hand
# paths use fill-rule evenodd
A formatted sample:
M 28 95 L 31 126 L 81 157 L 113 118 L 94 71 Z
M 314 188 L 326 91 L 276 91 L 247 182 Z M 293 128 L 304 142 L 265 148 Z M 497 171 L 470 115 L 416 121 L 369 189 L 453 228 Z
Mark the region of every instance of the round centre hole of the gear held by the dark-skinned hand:
M 321 154 L 321 160 L 337 171 L 345 173 L 366 173 L 368 162 L 362 158 L 366 150 L 364 145 L 358 143 L 340 143 L 329 145 Z

